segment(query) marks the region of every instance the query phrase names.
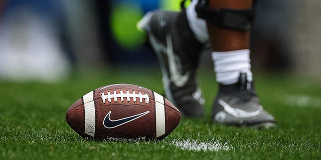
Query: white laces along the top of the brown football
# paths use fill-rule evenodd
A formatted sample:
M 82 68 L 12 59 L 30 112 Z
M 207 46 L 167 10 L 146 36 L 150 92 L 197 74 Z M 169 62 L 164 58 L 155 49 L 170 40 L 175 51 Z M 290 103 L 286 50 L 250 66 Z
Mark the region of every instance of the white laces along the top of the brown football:
M 133 101 L 136 102 L 136 98 L 139 98 L 139 102 L 142 103 L 142 99 L 145 99 L 145 103 L 147 104 L 149 101 L 149 97 L 146 93 L 141 94 L 141 92 L 138 92 L 137 94 L 133 90 L 132 93 L 129 93 L 129 90 L 126 90 L 124 93 L 122 90 L 120 90 L 120 93 L 117 93 L 116 90 L 114 90 L 113 94 L 110 94 L 110 91 L 107 92 L 107 95 L 105 95 L 104 92 L 101 92 L 101 99 L 102 102 L 105 103 L 106 99 L 108 99 L 108 102 L 111 102 L 111 98 L 114 99 L 115 102 L 117 102 L 117 98 L 120 97 L 120 101 L 124 101 L 124 97 L 127 98 L 127 101 L 130 102 L 130 97 L 133 98 Z

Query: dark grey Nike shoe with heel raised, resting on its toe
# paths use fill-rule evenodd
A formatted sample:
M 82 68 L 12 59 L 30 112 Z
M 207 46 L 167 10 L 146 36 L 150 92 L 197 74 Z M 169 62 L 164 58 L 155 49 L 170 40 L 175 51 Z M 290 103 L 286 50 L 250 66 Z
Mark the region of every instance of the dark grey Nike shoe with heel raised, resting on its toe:
M 196 79 L 203 45 L 196 40 L 185 10 L 150 11 L 137 27 L 148 34 L 149 43 L 161 65 L 167 98 L 185 116 L 204 116 L 204 99 Z

